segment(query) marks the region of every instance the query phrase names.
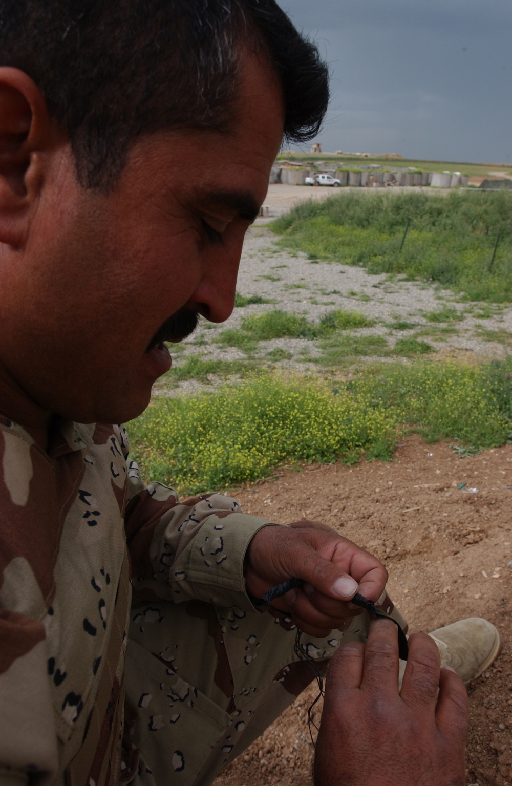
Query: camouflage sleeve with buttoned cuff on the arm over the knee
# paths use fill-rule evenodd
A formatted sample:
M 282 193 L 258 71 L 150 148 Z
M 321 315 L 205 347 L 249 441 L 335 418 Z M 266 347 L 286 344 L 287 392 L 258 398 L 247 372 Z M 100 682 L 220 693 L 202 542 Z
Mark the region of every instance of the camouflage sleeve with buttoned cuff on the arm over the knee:
M 245 593 L 245 552 L 254 534 L 273 522 L 245 516 L 223 494 L 179 502 L 161 483 L 144 488 L 134 461 L 128 483 L 125 529 L 134 604 L 197 599 L 254 611 Z

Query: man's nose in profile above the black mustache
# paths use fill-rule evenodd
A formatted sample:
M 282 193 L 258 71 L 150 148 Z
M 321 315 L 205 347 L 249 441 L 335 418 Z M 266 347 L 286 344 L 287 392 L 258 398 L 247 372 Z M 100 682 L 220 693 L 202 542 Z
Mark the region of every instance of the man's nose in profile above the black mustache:
M 203 277 L 186 304 L 211 322 L 224 322 L 233 312 L 242 242 L 208 254 Z

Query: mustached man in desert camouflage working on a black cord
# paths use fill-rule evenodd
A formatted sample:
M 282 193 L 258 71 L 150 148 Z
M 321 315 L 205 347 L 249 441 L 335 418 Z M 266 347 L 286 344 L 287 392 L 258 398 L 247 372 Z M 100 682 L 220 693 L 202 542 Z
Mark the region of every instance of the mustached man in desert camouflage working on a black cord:
M 273 0 L 4 0 L 0 38 L 0 784 L 208 784 L 311 681 L 300 656 L 366 639 L 358 588 L 403 623 L 363 549 L 144 489 L 111 425 L 147 406 L 165 341 L 230 315 L 283 132 L 318 130 L 326 68 Z M 499 645 L 477 634 L 472 674 Z M 445 663 L 457 636 L 438 634 Z M 421 661 L 404 686 L 423 694 Z M 443 675 L 462 731 L 430 769 L 448 783 L 466 714 Z

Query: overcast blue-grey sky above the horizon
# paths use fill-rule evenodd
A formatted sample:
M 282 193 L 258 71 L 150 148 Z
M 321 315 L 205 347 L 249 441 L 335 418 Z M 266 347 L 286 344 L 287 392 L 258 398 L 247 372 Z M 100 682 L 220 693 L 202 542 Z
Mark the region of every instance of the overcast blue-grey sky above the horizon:
M 512 164 L 512 0 L 278 0 L 319 44 L 324 151 Z

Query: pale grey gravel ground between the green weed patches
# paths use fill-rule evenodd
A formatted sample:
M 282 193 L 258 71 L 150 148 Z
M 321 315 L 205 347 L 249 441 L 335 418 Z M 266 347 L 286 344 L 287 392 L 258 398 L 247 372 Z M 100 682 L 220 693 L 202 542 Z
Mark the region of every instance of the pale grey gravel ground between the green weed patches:
M 245 361 L 247 356 L 234 347 L 220 347 L 213 343 L 215 336 L 227 328 L 238 329 L 242 318 L 261 314 L 264 310 L 281 309 L 318 321 L 333 309 L 351 310 L 375 320 L 370 328 L 352 331 L 357 335 L 384 336 L 392 347 L 397 339 L 418 336 L 426 340 L 435 351 L 444 354 L 476 354 L 483 358 L 501 358 L 512 342 L 512 307 L 484 303 L 459 303 L 453 292 L 425 281 L 389 280 L 385 274 L 370 275 L 360 267 L 340 263 L 311 262 L 307 255 L 290 253 L 278 248 L 278 237 L 263 222 L 247 233 L 238 277 L 238 292 L 243 296 L 260 295 L 273 303 L 235 308 L 234 314 L 223 325 L 210 325 L 203 321 L 197 332 L 183 342 L 173 359 L 179 368 L 191 355 L 204 360 L 222 359 Z M 455 308 L 461 321 L 430 323 L 424 316 L 441 307 Z M 488 318 L 477 318 L 486 309 Z M 414 328 L 396 330 L 394 321 L 408 321 Z M 453 329 L 453 333 L 440 332 Z M 426 335 L 422 335 L 427 331 Z M 497 333 L 494 333 L 497 332 Z M 493 335 L 494 333 L 494 335 Z M 175 348 L 175 347 L 174 347 Z M 284 350 L 291 358 L 272 365 L 283 369 L 318 369 L 312 363 L 320 354 L 318 342 L 306 339 L 282 338 L 262 341 L 252 355 L 265 358 L 274 349 Z M 367 362 L 376 358 L 358 358 Z M 265 362 L 269 362 L 267 359 Z M 172 379 L 171 377 L 168 379 Z M 158 395 L 168 391 L 164 378 L 155 391 Z M 210 383 L 215 383 L 215 377 Z M 180 382 L 177 390 L 194 391 L 202 387 L 194 380 Z

